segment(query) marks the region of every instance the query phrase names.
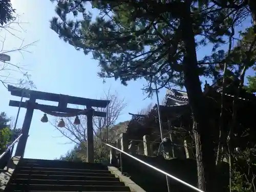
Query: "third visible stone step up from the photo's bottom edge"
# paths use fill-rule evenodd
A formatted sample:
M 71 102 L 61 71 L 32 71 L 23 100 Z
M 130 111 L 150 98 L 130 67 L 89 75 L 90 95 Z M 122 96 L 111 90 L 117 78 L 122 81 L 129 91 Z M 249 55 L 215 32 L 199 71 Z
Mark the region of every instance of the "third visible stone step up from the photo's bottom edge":
M 14 174 L 13 179 L 27 179 L 28 174 Z M 33 175 L 33 179 L 76 180 L 76 181 L 120 181 L 116 177 L 69 176 L 69 175 Z

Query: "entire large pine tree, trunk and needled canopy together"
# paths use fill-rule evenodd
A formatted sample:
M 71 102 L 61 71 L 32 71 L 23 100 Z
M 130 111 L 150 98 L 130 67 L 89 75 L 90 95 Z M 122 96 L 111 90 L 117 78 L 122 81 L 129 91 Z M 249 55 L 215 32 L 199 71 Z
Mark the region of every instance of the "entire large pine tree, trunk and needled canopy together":
M 196 50 L 211 42 L 215 51 L 225 42 L 222 37 L 230 35 L 230 18 L 240 12 L 205 0 L 90 1 L 100 11 L 93 21 L 84 8 L 88 1 L 56 2 L 57 17 L 52 18 L 51 29 L 75 49 L 92 52 L 99 60 L 100 77 L 114 77 L 124 85 L 144 78 L 150 94 L 155 81 L 160 88 L 185 86 L 194 118 L 198 186 L 217 190 L 211 125 L 199 77 L 219 77 L 216 63 L 223 61 L 225 52 L 219 50 L 198 61 Z M 75 19 L 69 19 L 70 13 Z M 83 19 L 78 19 L 79 14 Z

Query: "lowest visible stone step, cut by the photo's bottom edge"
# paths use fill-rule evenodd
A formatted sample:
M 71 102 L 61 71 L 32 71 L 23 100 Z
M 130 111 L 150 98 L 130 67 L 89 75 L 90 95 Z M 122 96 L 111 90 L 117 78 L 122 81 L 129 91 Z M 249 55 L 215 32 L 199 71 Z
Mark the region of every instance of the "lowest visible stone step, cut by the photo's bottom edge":
M 10 184 L 9 191 L 131 191 L 127 186 Z

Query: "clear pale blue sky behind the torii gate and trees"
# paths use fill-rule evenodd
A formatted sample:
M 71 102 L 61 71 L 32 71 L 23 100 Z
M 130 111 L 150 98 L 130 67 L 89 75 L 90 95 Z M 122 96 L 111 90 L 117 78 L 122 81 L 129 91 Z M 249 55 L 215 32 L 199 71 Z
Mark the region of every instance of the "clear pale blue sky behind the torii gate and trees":
M 24 45 L 38 40 L 33 46 L 30 46 L 25 52 L 20 54 L 12 52 L 12 63 L 26 65 L 32 80 L 36 84 L 38 91 L 66 94 L 85 98 L 99 98 L 103 91 L 117 91 L 120 98 L 125 98 L 127 106 L 119 117 L 118 121 L 130 119 L 129 112 L 136 113 L 145 108 L 150 103 L 156 103 L 156 98 L 145 99 L 142 93 L 142 84 L 145 81 L 138 80 L 129 82 L 127 87 L 120 84 L 120 81 L 108 79 L 102 83 L 102 79 L 97 76 L 99 71 L 98 62 L 92 59 L 91 55 L 85 56 L 82 52 L 76 51 L 72 46 L 60 40 L 50 28 L 49 20 L 55 15 L 54 6 L 49 0 L 12 0 L 14 8 L 20 14 L 20 20 L 24 22 L 25 32 L 15 32 L 22 39 L 25 39 Z M 40 2 L 40 3 L 39 3 Z M 97 14 L 97 12 L 92 11 Z M 248 24 L 247 24 L 248 25 Z M 243 29 L 244 26 L 241 26 Z M 10 34 L 6 35 L 5 49 L 19 47 L 21 41 L 13 38 Z M 8 38 L 9 37 L 9 38 Z M 199 57 L 209 54 L 210 48 L 203 48 L 198 51 Z M 18 78 L 15 73 L 13 78 Z M 8 116 L 15 117 L 17 108 L 8 106 L 9 100 L 19 100 L 10 96 L 10 93 L 0 86 L 1 100 L 0 111 L 4 111 Z M 163 99 L 165 90 L 160 92 L 160 99 Z M 51 102 L 41 102 L 44 104 L 53 104 Z M 25 109 L 20 111 L 17 127 L 21 127 Z M 25 157 L 35 159 L 55 159 L 60 155 L 67 153 L 73 147 L 73 144 L 63 144 L 68 142 L 66 138 L 61 138 L 55 128 L 48 123 L 41 123 L 40 118 L 43 113 L 35 111 L 30 127 L 29 138 L 26 146 Z

